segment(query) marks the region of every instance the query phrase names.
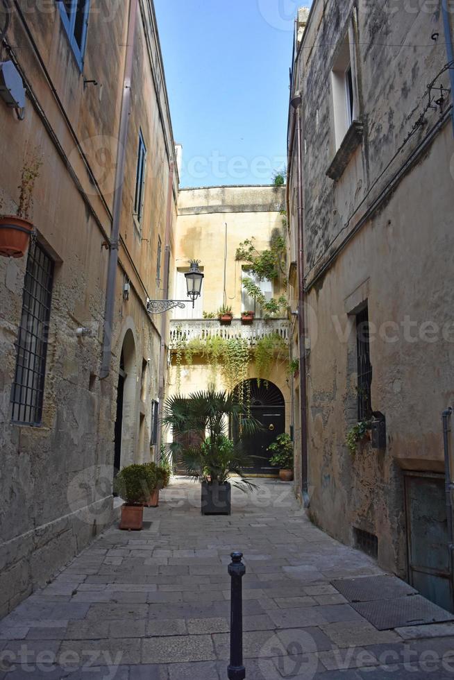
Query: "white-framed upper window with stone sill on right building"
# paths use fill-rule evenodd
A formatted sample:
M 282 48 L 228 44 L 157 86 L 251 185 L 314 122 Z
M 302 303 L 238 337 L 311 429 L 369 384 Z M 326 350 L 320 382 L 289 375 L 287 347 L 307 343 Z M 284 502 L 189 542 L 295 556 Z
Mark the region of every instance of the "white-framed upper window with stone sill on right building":
M 355 73 L 351 53 L 351 41 L 347 34 L 342 42 L 331 72 L 333 86 L 333 115 L 336 151 L 341 146 L 348 128 L 358 117 L 355 95 Z

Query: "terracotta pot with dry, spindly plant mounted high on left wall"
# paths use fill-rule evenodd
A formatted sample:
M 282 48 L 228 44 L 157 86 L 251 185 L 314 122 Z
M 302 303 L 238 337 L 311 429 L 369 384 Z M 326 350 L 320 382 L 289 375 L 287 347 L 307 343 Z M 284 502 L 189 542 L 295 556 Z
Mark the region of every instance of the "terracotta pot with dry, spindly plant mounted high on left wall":
M 3 257 L 24 257 L 28 241 L 33 232 L 30 220 L 33 207 L 33 189 L 40 176 L 42 160 L 33 156 L 22 168 L 19 205 L 16 215 L 0 215 L 0 255 Z M 0 205 L 1 211 L 1 205 Z

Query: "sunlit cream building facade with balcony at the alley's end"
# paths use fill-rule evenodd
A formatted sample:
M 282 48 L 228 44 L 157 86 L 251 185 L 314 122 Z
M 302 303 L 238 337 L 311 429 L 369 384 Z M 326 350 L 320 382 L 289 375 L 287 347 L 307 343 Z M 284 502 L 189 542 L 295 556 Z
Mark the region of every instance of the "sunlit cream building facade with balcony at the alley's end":
M 256 415 L 266 420 L 271 440 L 276 434 L 292 425 L 292 404 L 288 366 L 288 319 L 285 309 L 266 320 L 258 305 L 254 307 L 244 291 L 243 277 L 246 264 L 235 255 L 239 244 L 245 239 L 255 239 L 258 253 L 269 249 L 274 233 L 283 232 L 283 210 L 285 189 L 274 186 L 208 187 L 203 189 L 181 189 L 178 200 L 178 219 L 175 250 L 174 298 L 181 299 L 184 292 L 184 272 L 190 260 L 200 260 L 204 280 L 201 298 L 196 307 L 176 309 L 170 324 L 171 357 L 169 365 L 169 395 L 179 393 L 187 396 L 194 391 L 216 384 L 218 389 L 233 389 L 243 381 L 251 381 Z M 285 294 L 282 282 L 263 281 L 260 283 L 265 295 L 279 298 Z M 217 310 L 226 305 L 231 307 L 233 321 L 220 323 Z M 242 312 L 255 311 L 251 325 L 241 321 Z M 203 318 L 212 316 L 213 318 Z M 261 373 L 255 362 L 255 350 L 261 339 L 276 335 L 282 339 L 269 370 Z M 239 363 L 232 384 L 220 365 L 210 363 L 203 342 L 217 338 L 220 342 L 242 339 L 250 352 L 250 362 L 244 373 Z M 191 341 L 200 341 L 200 347 L 190 352 L 188 361 L 185 348 Z M 225 348 L 224 348 L 225 349 Z M 223 351 L 223 348 L 219 348 Z M 233 350 L 235 351 L 235 350 Z M 259 381 L 257 381 L 259 379 Z M 262 379 L 262 380 L 260 380 Z M 267 380 L 265 384 L 264 380 Z M 278 408 L 269 408 L 269 402 Z M 271 417 L 274 414 L 274 418 Z M 268 416 L 269 423 L 268 423 Z M 274 434 L 273 434 L 274 433 Z M 264 442 L 260 449 L 267 459 Z M 258 461 L 254 473 L 274 475 L 267 461 Z

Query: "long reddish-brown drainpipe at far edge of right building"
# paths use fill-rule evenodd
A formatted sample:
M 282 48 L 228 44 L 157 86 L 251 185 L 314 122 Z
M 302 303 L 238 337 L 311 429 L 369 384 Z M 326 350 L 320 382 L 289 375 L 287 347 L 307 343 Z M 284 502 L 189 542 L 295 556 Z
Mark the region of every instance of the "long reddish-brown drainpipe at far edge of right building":
M 298 331 L 299 331 L 299 389 L 301 409 L 301 493 L 304 507 L 310 505 L 308 488 L 308 392 L 306 386 L 305 351 L 305 294 L 304 294 L 304 234 L 303 234 L 303 147 L 301 146 L 301 95 L 290 101 L 296 113 L 296 168 L 298 177 Z M 293 150 L 293 147 L 292 147 Z M 292 154 L 292 152 L 291 152 Z

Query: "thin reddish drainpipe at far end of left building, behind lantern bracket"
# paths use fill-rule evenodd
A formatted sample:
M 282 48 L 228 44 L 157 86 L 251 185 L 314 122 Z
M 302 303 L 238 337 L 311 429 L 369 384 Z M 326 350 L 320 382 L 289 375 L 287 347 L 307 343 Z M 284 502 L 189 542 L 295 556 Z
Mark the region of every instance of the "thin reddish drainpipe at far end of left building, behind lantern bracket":
M 174 195 L 174 160 L 169 164 L 169 187 L 167 189 L 167 216 L 165 223 L 165 265 L 164 278 L 162 279 L 162 287 L 164 289 L 164 298 L 169 299 L 169 269 L 170 269 L 170 237 L 172 225 L 172 198 Z M 162 419 L 162 407 L 164 406 L 164 392 L 165 392 L 165 371 L 167 360 L 167 347 L 165 343 L 167 333 L 167 314 L 162 314 L 161 319 L 161 344 L 159 350 L 159 367 L 158 367 L 158 423 Z M 162 428 L 158 427 L 158 436 L 156 437 L 156 454 L 155 459 L 158 463 L 161 457 L 161 441 Z

